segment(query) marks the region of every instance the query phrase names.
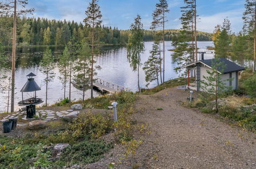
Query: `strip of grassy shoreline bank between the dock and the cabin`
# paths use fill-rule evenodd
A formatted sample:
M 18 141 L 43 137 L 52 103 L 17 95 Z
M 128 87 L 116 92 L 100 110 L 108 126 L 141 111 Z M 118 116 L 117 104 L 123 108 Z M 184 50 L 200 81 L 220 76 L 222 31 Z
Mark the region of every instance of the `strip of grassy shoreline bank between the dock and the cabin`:
M 193 78 L 191 80 L 193 80 Z M 166 88 L 173 88 L 175 86 L 186 85 L 186 83 L 187 83 L 187 79 L 183 77 L 171 79 L 171 80 L 165 81 L 164 85 L 159 85 L 152 89 L 142 89 L 141 94 L 150 95 L 150 94 L 157 93 L 161 90 L 164 90 Z

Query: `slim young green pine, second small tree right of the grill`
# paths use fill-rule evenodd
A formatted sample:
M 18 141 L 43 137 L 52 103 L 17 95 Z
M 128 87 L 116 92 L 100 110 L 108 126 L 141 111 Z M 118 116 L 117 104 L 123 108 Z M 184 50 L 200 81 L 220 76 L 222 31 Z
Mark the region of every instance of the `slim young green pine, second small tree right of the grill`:
M 60 79 L 62 80 L 63 88 L 64 88 L 64 99 L 66 98 L 66 86 L 69 78 L 69 59 L 70 53 L 68 51 L 68 47 L 64 48 L 63 54 L 60 55 L 60 60 L 58 61 L 58 68 L 60 71 Z

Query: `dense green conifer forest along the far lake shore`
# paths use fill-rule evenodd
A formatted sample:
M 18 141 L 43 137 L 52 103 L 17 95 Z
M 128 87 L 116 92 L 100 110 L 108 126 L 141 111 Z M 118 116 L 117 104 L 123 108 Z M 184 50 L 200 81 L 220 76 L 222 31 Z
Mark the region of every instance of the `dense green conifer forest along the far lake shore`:
M 12 44 L 12 17 L 0 17 L 0 43 L 5 46 Z M 65 46 L 71 37 L 76 41 L 90 39 L 90 27 L 74 21 L 48 20 L 47 18 L 18 18 L 17 44 L 18 45 L 56 45 Z M 97 43 L 126 44 L 129 30 L 101 26 L 95 29 Z M 180 30 L 166 30 L 165 39 L 172 40 L 178 37 Z M 198 32 L 198 40 L 211 40 L 212 33 Z M 154 40 L 155 32 L 145 30 L 144 40 Z

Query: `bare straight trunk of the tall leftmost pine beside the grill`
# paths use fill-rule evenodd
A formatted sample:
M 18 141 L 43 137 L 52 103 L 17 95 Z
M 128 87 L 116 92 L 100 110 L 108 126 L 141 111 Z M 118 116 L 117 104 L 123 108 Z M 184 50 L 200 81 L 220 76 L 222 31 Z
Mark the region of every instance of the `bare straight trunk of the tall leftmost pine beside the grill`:
M 16 23 L 17 23 L 17 1 L 14 0 L 13 15 L 13 39 L 12 39 L 12 92 L 11 92 L 11 112 L 14 112 L 14 93 L 15 93 L 15 61 L 16 61 Z

